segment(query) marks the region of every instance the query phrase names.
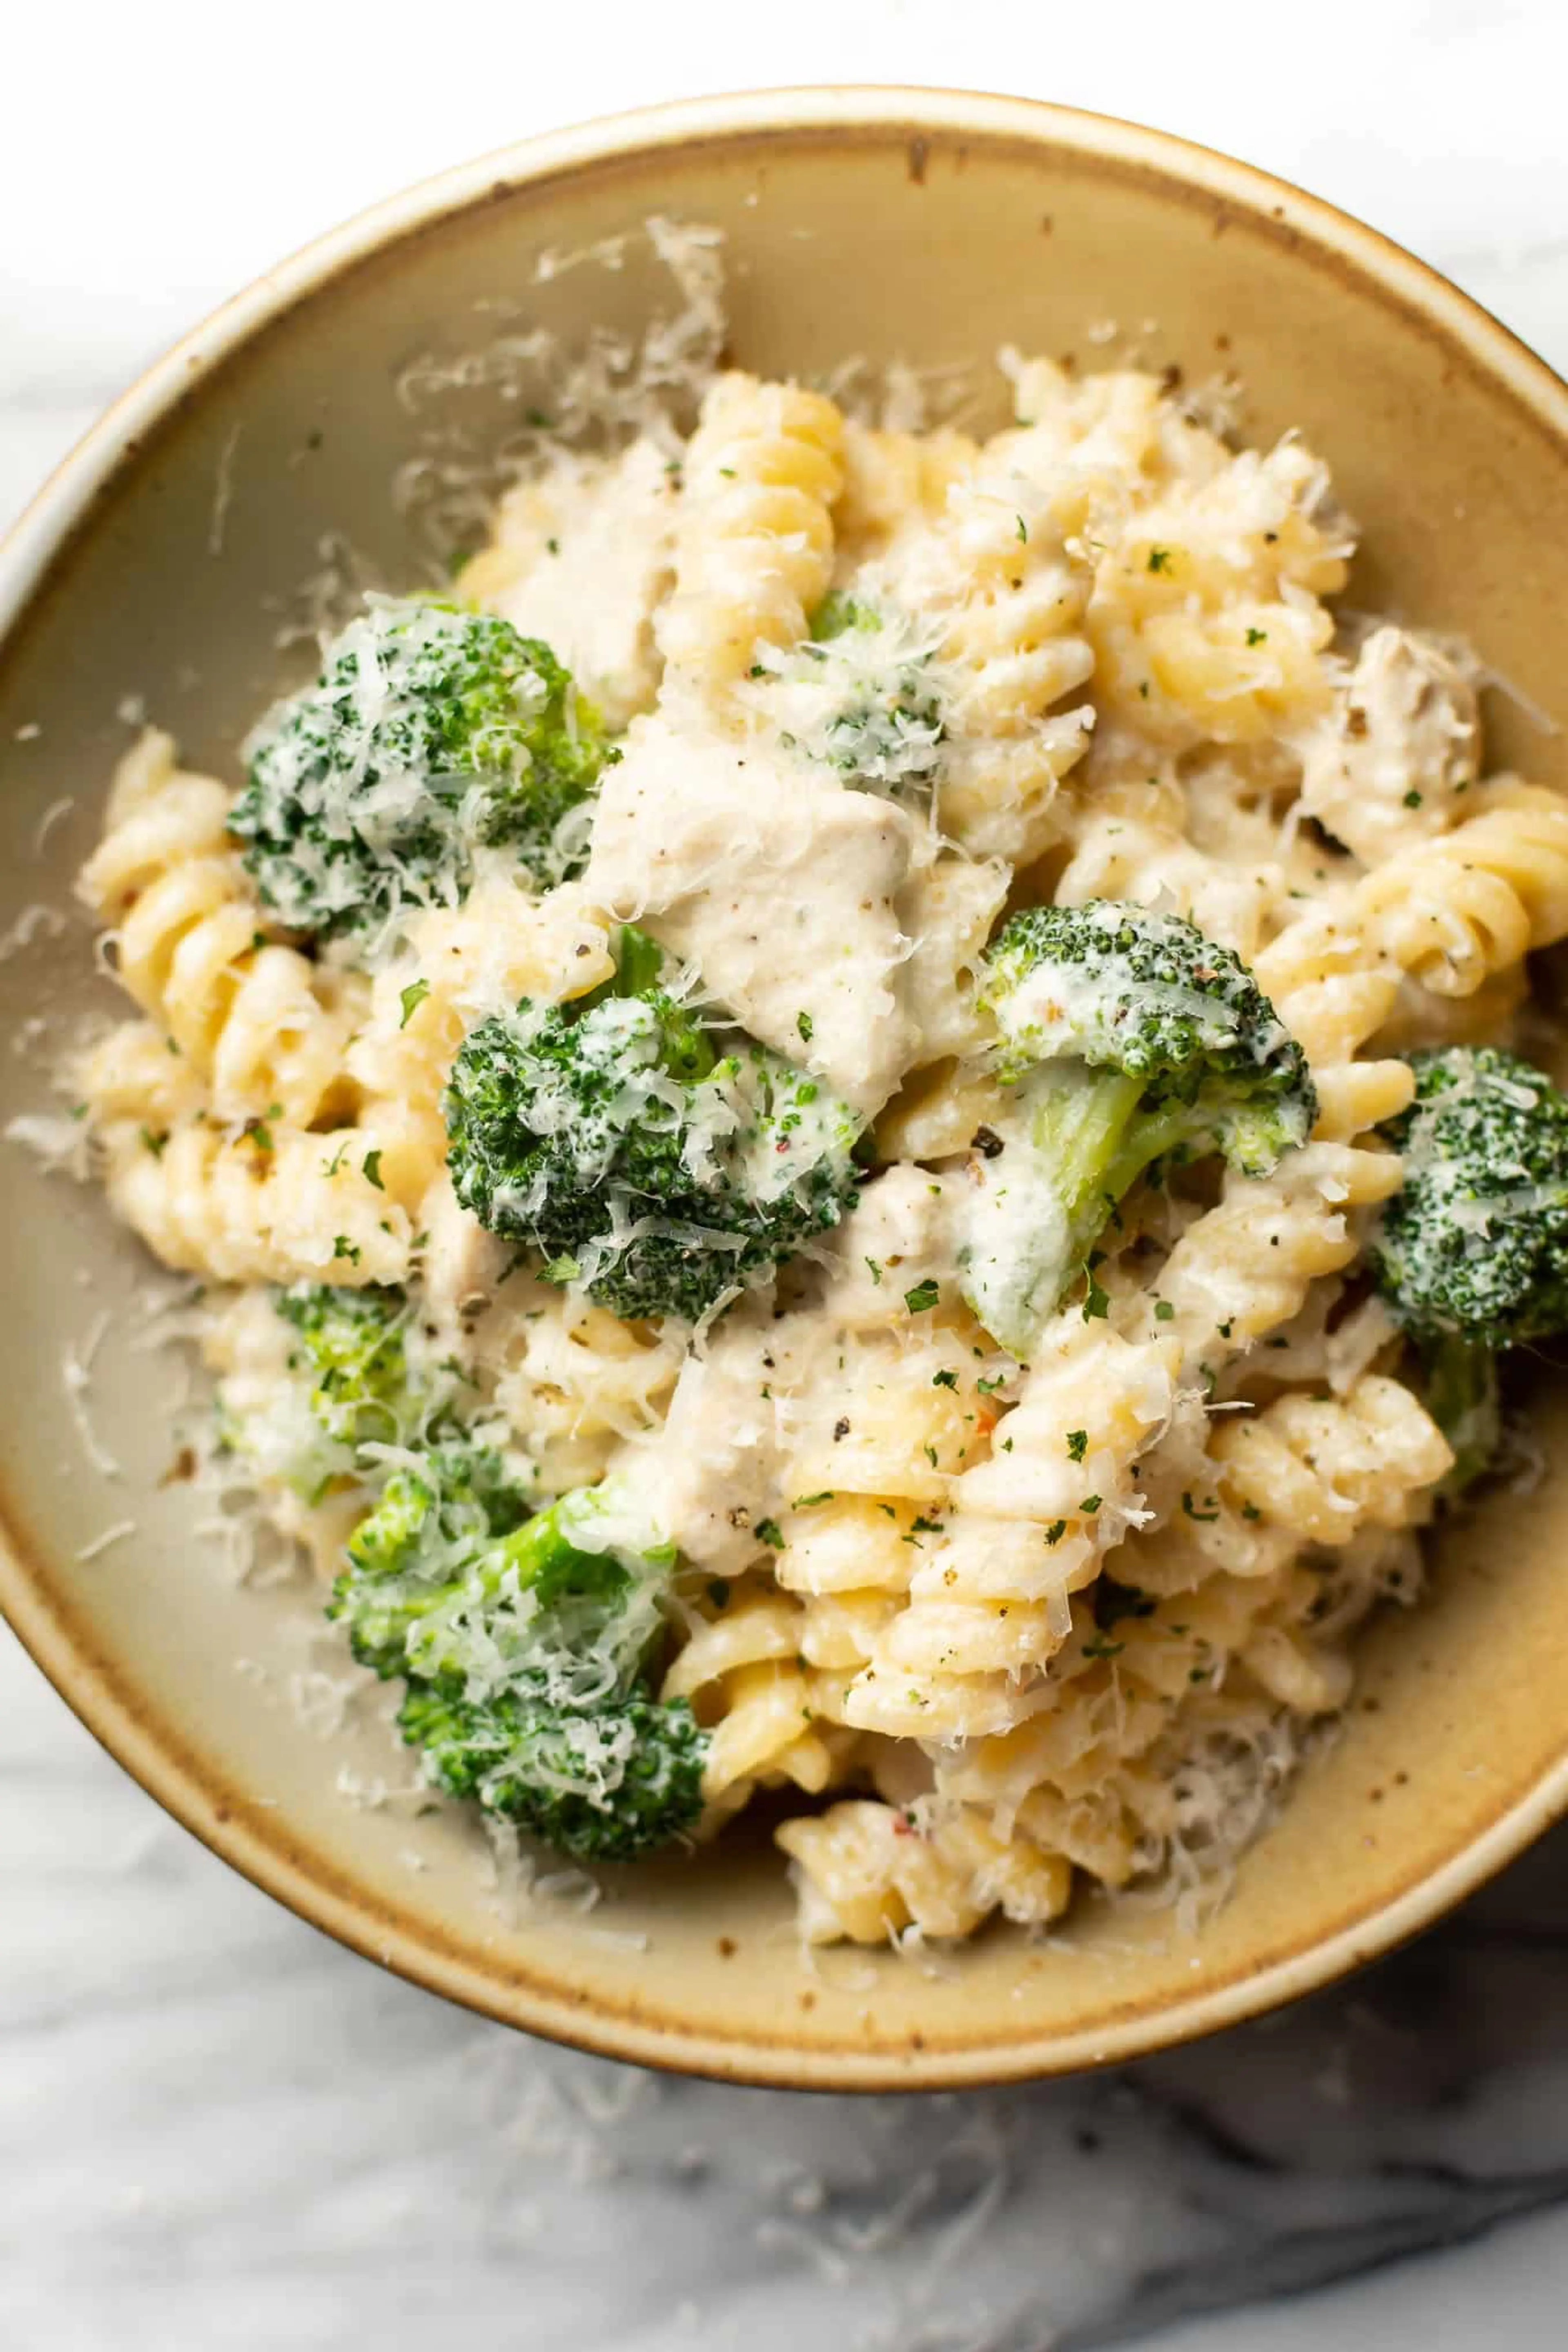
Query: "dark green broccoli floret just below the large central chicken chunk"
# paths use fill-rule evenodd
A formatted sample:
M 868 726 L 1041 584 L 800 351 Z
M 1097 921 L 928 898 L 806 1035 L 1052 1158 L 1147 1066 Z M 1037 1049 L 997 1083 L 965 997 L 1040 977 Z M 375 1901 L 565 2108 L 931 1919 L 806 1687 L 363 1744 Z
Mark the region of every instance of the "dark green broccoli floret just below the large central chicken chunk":
M 621 936 L 611 983 L 463 1040 L 444 1096 L 458 1200 L 614 1315 L 696 1322 L 837 1225 L 858 1120 L 778 1054 L 658 985 Z

